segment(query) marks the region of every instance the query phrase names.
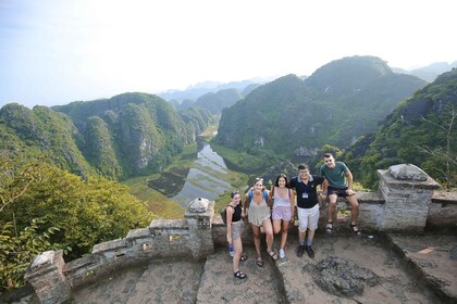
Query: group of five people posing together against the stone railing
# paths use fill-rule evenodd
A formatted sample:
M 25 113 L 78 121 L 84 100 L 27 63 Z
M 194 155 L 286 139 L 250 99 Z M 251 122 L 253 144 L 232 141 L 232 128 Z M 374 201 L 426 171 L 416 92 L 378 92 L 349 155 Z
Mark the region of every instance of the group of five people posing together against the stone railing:
M 257 252 L 256 264 L 263 267 L 260 251 L 260 228 L 263 228 L 267 241 L 267 253 L 273 259 L 285 258 L 285 245 L 289 224 L 294 224 L 295 202 L 298 216 L 298 248 L 297 256 L 301 257 L 307 252 L 310 258 L 314 257 L 312 240 L 319 221 L 319 195 L 322 200 L 329 198 L 328 221 L 325 231 L 332 232 L 333 217 L 338 197 L 346 198 L 351 205 L 350 228 L 355 235 L 360 235 L 357 226 L 359 214 L 358 200 L 353 191 L 353 174 L 343 162 L 335 162 L 331 153 L 323 155 L 324 164 L 320 167 L 319 175 L 311 175 L 308 165 L 298 165 L 298 176 L 287 180 L 287 176 L 280 174 L 272 188 L 263 186 L 262 178 L 256 181 L 244 197 L 238 191 L 232 192 L 232 200 L 226 208 L 227 242 L 234 246 L 233 256 L 234 276 L 238 279 L 247 278 L 239 270 L 239 261 L 247 259 L 243 254 L 242 232 L 243 218 L 247 217 L 252 229 L 254 244 Z M 318 190 L 318 187 L 320 190 Z M 273 250 L 273 235 L 281 231 L 279 255 Z

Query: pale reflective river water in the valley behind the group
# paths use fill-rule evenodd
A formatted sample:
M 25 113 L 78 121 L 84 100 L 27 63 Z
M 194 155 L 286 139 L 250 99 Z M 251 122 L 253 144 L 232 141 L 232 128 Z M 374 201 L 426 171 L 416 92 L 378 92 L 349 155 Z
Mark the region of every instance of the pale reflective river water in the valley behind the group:
M 172 198 L 184 207 L 196 198 L 214 200 L 231 188 L 231 183 L 224 180 L 227 175 L 224 160 L 207 142 L 200 144 L 197 160 L 186 177 L 183 189 Z

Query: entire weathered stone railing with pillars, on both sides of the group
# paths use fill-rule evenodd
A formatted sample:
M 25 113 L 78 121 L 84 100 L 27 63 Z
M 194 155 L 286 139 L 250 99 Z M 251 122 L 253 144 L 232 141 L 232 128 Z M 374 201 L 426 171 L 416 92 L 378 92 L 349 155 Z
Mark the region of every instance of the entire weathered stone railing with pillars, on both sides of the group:
M 440 226 L 443 213 L 444 223 L 455 225 L 457 203 L 433 204 L 439 183 L 420 168 L 403 164 L 379 170 L 379 176 L 378 192 L 357 193 L 359 224 L 365 230 L 422 232 L 430 223 Z M 350 210 L 344 201 L 337 207 Z M 320 220 L 326 220 L 326 212 L 321 212 Z M 243 240 L 252 242 L 250 229 L 245 229 Z M 70 263 L 65 264 L 61 251 L 45 252 L 30 264 L 25 279 L 41 303 L 65 303 L 72 301 L 73 290 L 123 267 L 190 255 L 202 259 L 215 245 L 226 245 L 225 225 L 214 215 L 214 202 L 199 198 L 189 203 L 184 219 L 152 220 L 124 239 L 96 244 L 91 254 Z

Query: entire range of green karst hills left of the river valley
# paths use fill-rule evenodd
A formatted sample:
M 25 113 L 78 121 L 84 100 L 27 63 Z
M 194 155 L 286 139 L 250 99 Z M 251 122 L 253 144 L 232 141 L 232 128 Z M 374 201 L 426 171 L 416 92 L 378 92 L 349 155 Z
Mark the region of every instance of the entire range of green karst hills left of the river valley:
M 7 104 L 0 110 L 0 150 L 5 159 L 41 156 L 79 176 L 118 180 L 161 170 L 210 118 L 198 107 L 180 115 L 169 102 L 146 93 L 52 109 Z

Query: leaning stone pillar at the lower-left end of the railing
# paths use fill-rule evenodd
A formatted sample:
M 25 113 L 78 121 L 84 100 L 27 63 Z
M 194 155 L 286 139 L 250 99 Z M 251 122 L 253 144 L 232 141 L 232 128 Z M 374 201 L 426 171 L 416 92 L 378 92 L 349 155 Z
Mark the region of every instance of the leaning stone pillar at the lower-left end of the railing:
M 70 303 L 71 288 L 63 275 L 63 252 L 46 251 L 37 255 L 25 274 L 42 304 Z

